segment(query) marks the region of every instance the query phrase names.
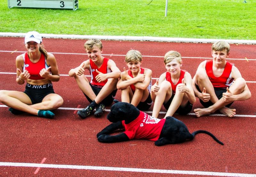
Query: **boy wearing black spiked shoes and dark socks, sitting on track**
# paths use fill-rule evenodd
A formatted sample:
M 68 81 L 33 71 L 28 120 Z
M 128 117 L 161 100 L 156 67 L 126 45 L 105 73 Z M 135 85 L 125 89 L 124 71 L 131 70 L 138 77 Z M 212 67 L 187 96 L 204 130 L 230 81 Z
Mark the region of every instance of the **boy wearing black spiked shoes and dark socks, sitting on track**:
M 101 56 L 102 43 L 100 40 L 89 39 L 85 42 L 84 48 L 89 60 L 71 69 L 68 75 L 75 77 L 79 88 L 91 103 L 85 109 L 77 111 L 77 114 L 85 118 L 96 108 L 94 116 L 98 117 L 105 110 L 105 105 L 110 105 L 113 102 L 117 91 L 116 83 L 121 72 L 113 60 Z M 91 81 L 85 77 L 85 69 L 90 71 Z

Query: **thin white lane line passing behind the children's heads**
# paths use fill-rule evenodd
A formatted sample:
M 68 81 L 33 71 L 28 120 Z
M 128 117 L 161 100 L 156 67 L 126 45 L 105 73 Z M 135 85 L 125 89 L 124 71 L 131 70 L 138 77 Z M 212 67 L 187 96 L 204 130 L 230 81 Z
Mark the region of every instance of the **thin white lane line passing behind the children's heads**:
M 25 53 L 26 51 L 5 51 L 0 50 L 0 52 L 13 52 L 13 53 Z M 87 55 L 87 53 L 61 53 L 61 52 L 49 52 L 53 54 L 68 54 L 68 55 Z M 125 55 L 118 55 L 118 54 L 102 54 L 106 56 L 125 56 Z M 142 55 L 143 57 L 153 57 L 153 58 L 164 58 L 164 56 L 153 56 L 153 55 Z M 212 59 L 211 57 L 182 57 L 182 58 L 192 58 L 192 59 Z M 252 60 L 256 61 L 256 59 L 245 59 L 245 58 L 227 58 L 227 60 Z

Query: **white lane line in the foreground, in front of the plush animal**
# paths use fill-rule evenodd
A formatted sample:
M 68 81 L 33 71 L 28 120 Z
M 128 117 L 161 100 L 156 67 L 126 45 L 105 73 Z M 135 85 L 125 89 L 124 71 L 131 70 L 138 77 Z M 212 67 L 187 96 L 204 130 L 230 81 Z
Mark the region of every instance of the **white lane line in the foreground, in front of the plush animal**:
M 36 164 L 36 163 L 15 163 L 15 162 L 0 162 L 0 166 L 107 170 L 107 171 L 122 171 L 122 172 L 143 172 L 143 173 L 194 174 L 194 175 L 209 175 L 209 176 L 256 177 L 256 174 L 246 174 L 246 173 L 220 173 L 220 172 L 204 172 L 204 171 L 124 168 L 124 167 L 109 167 L 109 166 L 81 166 L 81 165 L 58 165 L 58 164 Z

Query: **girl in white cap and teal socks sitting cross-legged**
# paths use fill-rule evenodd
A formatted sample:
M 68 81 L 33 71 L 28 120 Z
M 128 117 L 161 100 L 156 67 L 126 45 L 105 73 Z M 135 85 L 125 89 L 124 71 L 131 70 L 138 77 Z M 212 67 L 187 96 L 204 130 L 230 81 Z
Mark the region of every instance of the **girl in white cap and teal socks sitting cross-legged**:
M 42 37 L 38 32 L 26 34 L 25 46 L 28 51 L 16 58 L 16 82 L 22 85 L 26 81 L 25 91 L 0 90 L 0 102 L 9 106 L 13 114 L 27 112 L 53 118 L 54 113 L 50 110 L 63 104 L 63 99 L 54 93 L 52 87 L 52 82 L 60 80 L 56 59 L 42 47 Z

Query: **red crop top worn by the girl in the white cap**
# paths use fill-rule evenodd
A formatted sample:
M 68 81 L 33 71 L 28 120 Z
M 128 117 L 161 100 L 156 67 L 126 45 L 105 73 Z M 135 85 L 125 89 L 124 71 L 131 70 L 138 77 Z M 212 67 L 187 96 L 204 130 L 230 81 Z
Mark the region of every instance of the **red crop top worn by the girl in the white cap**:
M 28 71 L 28 73 L 30 74 L 29 79 L 33 79 L 33 80 L 45 79 L 44 77 L 41 77 L 39 74 L 43 68 L 47 69 L 49 67 L 46 64 L 46 59 L 44 54 L 41 53 L 41 57 L 39 61 L 37 61 L 36 63 L 32 63 L 29 60 L 28 52 L 23 53 L 22 56 L 24 60 L 23 71 L 25 71 L 25 69 Z

